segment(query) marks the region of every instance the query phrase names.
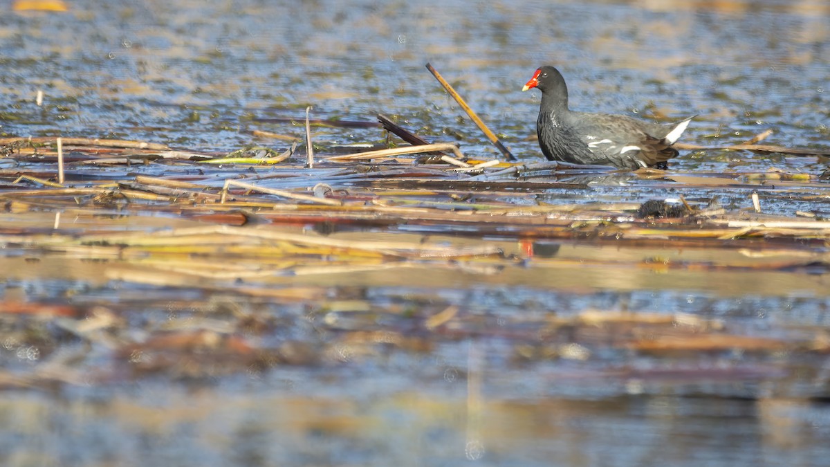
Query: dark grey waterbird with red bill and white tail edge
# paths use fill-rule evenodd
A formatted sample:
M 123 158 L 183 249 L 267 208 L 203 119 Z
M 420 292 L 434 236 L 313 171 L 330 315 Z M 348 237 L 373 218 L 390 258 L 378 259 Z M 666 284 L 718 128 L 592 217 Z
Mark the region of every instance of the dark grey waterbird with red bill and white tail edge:
M 536 133 L 544 157 L 574 164 L 615 165 L 622 169 L 657 166 L 677 155 L 671 145 L 694 117 L 662 125 L 629 116 L 571 111 L 568 87 L 559 70 L 542 66 L 522 91 L 542 91 Z

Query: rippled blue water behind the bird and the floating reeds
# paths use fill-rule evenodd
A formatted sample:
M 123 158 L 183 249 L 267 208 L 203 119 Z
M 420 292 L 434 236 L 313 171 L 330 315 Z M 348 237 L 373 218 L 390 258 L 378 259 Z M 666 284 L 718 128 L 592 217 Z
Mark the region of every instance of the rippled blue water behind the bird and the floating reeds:
M 559 66 L 574 108 L 699 115 L 689 143 L 826 144 L 825 2 L 73 2 L 0 18 L 3 130 L 232 150 L 251 119 L 406 117 L 425 137 L 491 153 L 424 69 L 432 62 L 523 158 L 539 150 L 536 66 Z M 46 93 L 45 106 L 33 100 Z M 320 143 L 378 140 L 320 130 Z M 814 162 L 775 158 L 798 169 Z M 685 168 L 771 165 L 686 155 Z

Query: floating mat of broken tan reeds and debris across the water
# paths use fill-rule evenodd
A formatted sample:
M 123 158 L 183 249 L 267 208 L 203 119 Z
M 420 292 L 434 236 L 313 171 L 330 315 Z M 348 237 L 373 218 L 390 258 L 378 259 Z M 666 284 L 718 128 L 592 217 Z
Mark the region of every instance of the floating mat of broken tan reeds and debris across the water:
M 818 174 L 63 140 L 60 184 L 53 140 L 5 144 L 7 388 L 397 355 L 536 394 L 830 396 Z

